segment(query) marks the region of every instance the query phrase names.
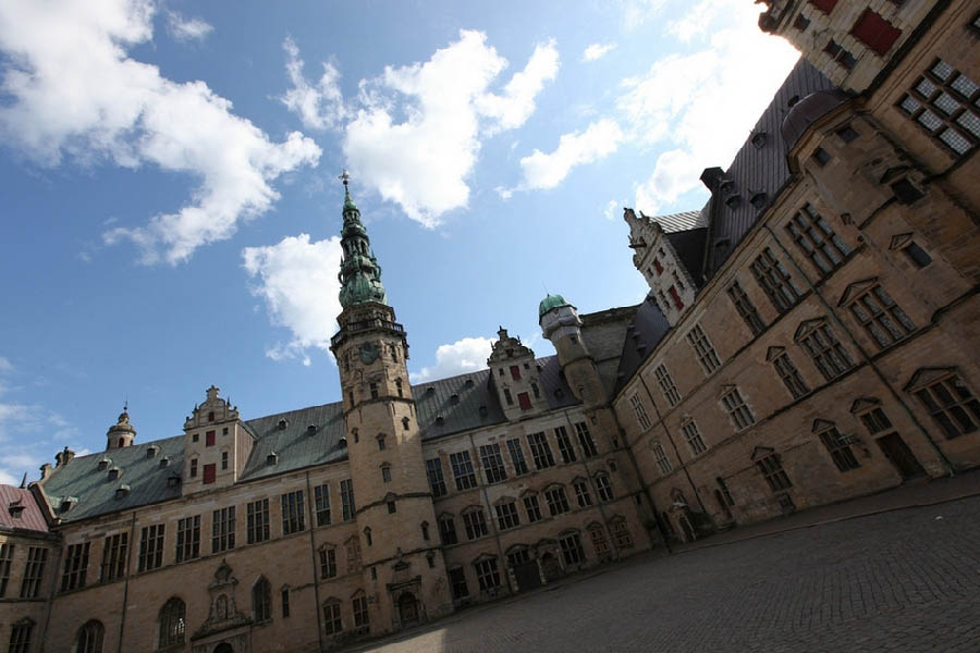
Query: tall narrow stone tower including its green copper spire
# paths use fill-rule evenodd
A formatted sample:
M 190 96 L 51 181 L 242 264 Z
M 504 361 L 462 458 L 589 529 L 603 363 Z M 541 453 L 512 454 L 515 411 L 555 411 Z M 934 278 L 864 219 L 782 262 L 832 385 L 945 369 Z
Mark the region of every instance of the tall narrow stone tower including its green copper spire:
M 453 611 L 408 385 L 405 329 L 385 303 L 381 267 L 344 181 L 340 331 L 330 348 L 344 421 L 371 625 L 397 630 Z

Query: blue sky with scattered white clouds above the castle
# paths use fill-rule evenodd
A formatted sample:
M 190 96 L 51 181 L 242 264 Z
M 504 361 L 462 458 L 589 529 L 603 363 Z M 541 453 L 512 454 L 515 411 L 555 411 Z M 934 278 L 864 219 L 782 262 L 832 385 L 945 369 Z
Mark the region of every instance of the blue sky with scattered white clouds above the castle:
M 639 301 L 624 206 L 699 209 L 797 53 L 749 0 L 0 4 L 0 482 L 210 384 L 340 398 L 344 168 L 416 382 Z

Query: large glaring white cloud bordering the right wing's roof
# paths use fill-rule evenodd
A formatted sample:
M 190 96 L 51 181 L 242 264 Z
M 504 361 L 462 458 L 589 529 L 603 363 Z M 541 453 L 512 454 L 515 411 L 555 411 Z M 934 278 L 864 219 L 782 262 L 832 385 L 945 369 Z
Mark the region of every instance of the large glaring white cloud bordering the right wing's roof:
M 731 162 L 799 58 L 759 29 L 760 8 L 743 0 L 711 5 L 696 4 L 670 28 L 693 38 L 697 30 L 682 25 L 707 24 L 716 13 L 724 26 L 706 35 L 705 48 L 666 57 L 623 82 L 618 108 L 628 138 L 665 150 L 636 188 L 636 206 L 647 213 L 698 187 L 705 168 Z

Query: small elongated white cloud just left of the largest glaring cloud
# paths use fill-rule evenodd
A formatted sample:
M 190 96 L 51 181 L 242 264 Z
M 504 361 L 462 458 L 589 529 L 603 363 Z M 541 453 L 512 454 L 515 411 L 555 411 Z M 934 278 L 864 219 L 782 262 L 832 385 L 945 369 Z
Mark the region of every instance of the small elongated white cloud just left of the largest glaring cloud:
M 620 125 L 608 118 L 593 122 L 585 132 L 564 134 L 550 155 L 536 149 L 520 159 L 524 171 L 522 188 L 554 188 L 573 168 L 611 155 L 622 140 Z

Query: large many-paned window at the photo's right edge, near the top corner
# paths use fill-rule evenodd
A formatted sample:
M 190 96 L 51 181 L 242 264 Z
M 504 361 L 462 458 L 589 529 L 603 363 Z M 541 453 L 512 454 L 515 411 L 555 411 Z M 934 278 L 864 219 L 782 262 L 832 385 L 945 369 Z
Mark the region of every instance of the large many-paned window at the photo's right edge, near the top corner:
M 898 108 L 963 157 L 980 141 L 980 86 L 942 59 L 903 96 Z

